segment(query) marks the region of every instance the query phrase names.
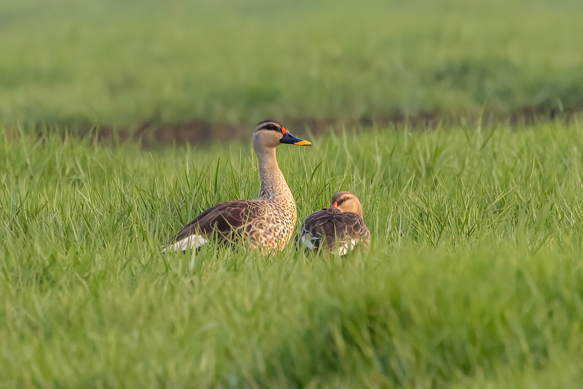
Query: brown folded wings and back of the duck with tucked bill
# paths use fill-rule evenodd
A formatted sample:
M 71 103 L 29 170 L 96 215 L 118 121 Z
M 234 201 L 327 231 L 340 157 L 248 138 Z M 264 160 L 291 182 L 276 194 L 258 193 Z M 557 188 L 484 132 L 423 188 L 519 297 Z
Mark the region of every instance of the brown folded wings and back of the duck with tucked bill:
M 334 247 L 336 241 L 354 240 L 370 243 L 370 232 L 364 220 L 352 212 L 340 212 L 334 208 L 322 209 L 311 213 L 300 227 L 295 242 L 301 242 L 311 250 L 317 250 L 322 240 L 328 247 Z

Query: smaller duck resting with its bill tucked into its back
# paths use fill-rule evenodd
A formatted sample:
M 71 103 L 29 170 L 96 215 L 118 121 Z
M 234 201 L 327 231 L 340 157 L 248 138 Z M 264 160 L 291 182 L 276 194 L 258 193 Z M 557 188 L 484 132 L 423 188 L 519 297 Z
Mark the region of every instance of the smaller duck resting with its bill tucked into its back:
M 358 243 L 370 244 L 364 225 L 363 206 L 350 192 L 336 192 L 327 209 L 311 213 L 301 224 L 296 244 L 318 250 L 322 240 L 332 253 L 345 255 Z

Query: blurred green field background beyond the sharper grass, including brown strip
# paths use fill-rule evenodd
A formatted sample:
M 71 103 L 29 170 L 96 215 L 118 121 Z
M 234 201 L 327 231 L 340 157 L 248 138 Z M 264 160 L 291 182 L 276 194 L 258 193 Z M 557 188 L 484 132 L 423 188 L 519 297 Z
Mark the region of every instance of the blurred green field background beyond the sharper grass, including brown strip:
M 154 144 L 546 120 L 583 108 L 581 37 L 580 0 L 3 0 L 0 124 Z

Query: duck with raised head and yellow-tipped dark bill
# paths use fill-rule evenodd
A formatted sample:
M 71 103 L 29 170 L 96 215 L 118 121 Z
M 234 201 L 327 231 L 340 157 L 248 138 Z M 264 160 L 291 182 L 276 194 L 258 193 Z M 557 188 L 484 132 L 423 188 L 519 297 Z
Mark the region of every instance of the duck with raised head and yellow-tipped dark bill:
M 250 244 L 264 251 L 282 250 L 291 239 L 297 220 L 294 201 L 279 170 L 275 148 L 281 144 L 310 146 L 291 135 L 275 120 L 265 120 L 253 130 L 253 149 L 259 168 L 259 196 L 254 200 L 227 201 L 196 216 L 163 251 L 198 248 L 212 238 Z

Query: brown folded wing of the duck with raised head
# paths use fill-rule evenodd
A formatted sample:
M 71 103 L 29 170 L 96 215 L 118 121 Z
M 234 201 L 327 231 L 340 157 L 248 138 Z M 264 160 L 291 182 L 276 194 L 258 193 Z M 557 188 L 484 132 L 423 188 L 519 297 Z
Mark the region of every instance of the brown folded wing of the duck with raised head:
M 227 201 L 206 209 L 192 222 L 178 232 L 171 243 L 187 239 L 192 235 L 211 236 L 218 234 L 224 239 L 233 240 L 241 234 L 250 218 L 261 215 L 264 209 L 254 201 Z

